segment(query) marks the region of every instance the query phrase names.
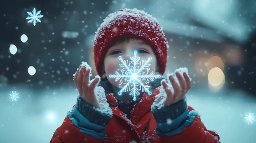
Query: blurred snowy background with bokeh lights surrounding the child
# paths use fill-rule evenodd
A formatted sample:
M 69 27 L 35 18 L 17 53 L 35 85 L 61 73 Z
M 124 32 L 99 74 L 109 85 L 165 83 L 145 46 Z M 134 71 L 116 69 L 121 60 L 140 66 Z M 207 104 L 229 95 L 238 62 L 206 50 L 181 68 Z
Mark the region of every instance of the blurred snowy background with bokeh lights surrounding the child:
M 76 68 L 88 62 L 96 75 L 95 31 L 122 7 L 159 21 L 170 46 L 165 75 L 188 68 L 188 105 L 206 127 L 221 142 L 256 142 L 255 0 L 24 0 L 0 7 L 0 143 L 50 141 L 76 102 Z M 35 26 L 26 19 L 34 8 L 44 15 Z

